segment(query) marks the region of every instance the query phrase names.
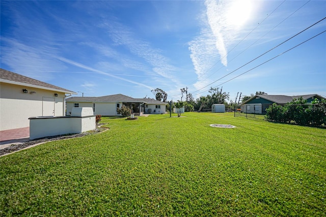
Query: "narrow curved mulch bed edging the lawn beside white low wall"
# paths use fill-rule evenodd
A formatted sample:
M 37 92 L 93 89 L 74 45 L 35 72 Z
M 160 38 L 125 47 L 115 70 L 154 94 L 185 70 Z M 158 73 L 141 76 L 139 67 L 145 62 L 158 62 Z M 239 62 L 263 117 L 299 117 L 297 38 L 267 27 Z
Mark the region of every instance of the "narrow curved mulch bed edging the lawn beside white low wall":
M 85 135 L 92 135 L 96 134 L 99 132 L 102 132 L 108 128 L 106 127 L 99 127 L 100 125 L 97 125 L 96 129 L 90 130 L 87 132 L 82 132 L 82 133 L 77 133 L 77 134 L 67 134 L 67 135 L 55 135 L 53 137 L 44 137 L 40 139 L 35 139 L 31 140 L 28 142 L 24 143 L 18 143 L 18 144 L 13 144 L 7 148 L 0 149 L 0 156 L 9 154 L 11 152 L 19 151 L 21 149 L 40 144 L 40 143 L 46 143 L 46 142 L 51 142 L 51 141 L 56 141 L 56 140 L 64 140 L 64 139 L 71 139 L 71 138 L 78 138 L 78 137 L 85 137 Z

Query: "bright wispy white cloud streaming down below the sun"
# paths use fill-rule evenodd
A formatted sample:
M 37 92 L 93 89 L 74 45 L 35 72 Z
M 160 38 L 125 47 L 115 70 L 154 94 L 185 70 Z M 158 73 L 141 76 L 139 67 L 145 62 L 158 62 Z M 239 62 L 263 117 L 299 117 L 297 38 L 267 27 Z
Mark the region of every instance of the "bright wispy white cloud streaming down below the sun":
M 232 4 L 232 1 L 205 1 L 206 10 L 199 17 L 201 32 L 188 43 L 198 76 L 198 82 L 194 84 L 197 90 L 212 82 L 207 75 L 216 64 L 228 64 L 228 45 L 234 42 L 239 30 L 228 20 Z

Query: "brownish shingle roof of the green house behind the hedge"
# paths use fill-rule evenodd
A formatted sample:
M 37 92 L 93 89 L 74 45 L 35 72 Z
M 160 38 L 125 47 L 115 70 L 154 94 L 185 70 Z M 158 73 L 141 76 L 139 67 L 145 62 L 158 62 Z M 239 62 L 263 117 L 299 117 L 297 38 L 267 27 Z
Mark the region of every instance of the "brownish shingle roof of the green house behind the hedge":
M 309 98 L 319 98 L 319 99 L 325 99 L 322 96 L 319 96 L 318 94 L 309 94 L 309 95 L 298 95 L 298 96 L 285 96 L 285 95 L 255 95 L 248 99 L 247 101 L 241 103 L 241 104 L 247 104 L 248 102 L 256 99 L 256 97 L 260 97 L 262 99 L 266 99 L 272 103 L 277 103 L 277 104 L 286 104 L 288 102 L 291 102 L 293 99 L 298 99 L 300 97 L 304 99 L 309 99 Z

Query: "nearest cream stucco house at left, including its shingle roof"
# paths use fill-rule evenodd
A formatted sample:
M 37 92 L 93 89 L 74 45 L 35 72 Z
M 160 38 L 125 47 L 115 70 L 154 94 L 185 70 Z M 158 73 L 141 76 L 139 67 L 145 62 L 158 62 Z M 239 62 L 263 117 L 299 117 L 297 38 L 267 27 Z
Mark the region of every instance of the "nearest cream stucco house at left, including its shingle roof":
M 0 69 L 0 130 L 30 126 L 30 117 L 65 116 L 73 91 Z

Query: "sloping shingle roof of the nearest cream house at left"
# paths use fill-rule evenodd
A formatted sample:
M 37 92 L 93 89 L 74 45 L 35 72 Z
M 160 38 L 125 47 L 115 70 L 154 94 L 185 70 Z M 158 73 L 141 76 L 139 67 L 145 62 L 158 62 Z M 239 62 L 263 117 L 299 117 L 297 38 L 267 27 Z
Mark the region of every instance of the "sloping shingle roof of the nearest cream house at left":
M 13 85 L 21 85 L 26 87 L 40 88 L 45 90 L 58 91 L 62 93 L 77 94 L 76 92 L 64 88 L 60 88 L 54 85 L 50 85 L 48 83 L 41 82 L 40 80 L 26 77 L 21 74 L 17 74 L 5 69 L 0 69 L 0 82 L 13 84 Z

